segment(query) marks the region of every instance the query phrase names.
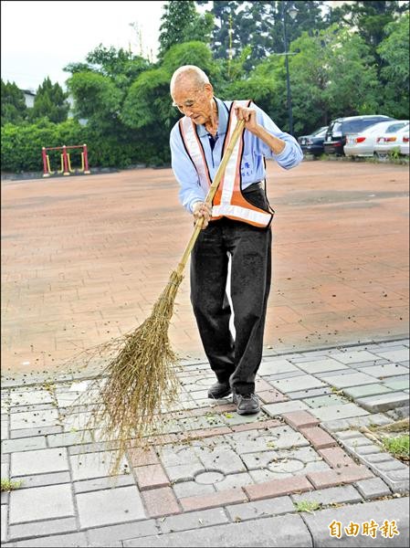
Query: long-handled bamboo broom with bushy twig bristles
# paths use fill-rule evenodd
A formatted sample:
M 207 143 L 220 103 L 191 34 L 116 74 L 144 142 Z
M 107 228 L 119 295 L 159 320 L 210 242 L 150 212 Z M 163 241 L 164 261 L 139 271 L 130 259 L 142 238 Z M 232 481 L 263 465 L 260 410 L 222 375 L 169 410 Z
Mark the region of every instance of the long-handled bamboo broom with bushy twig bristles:
M 206 195 L 205 203 L 208 205 L 212 205 L 244 123 L 237 121 L 214 182 Z M 93 391 L 98 395 L 85 428 L 91 432 L 99 431 L 104 441 L 118 448 L 110 469 L 112 475 L 118 473 L 130 442 L 141 445 L 143 437 L 158 431 L 164 420 L 163 408 L 177 401 L 180 386 L 177 378 L 178 359 L 171 348 L 168 329 L 173 303 L 184 279 L 184 268 L 203 223 L 204 217 L 196 221 L 184 255 L 153 305 L 149 318 L 134 331 L 97 347 L 100 356 L 108 349 L 114 349 L 117 354 L 89 386 L 88 394 Z

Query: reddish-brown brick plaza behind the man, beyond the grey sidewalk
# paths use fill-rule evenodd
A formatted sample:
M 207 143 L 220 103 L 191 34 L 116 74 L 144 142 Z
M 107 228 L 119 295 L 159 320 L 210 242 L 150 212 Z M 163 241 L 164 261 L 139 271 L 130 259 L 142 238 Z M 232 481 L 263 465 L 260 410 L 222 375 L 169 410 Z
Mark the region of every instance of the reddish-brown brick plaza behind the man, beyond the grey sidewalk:
M 53 369 L 149 315 L 192 231 L 177 193 L 170 169 L 2 183 L 6 369 Z M 268 163 L 267 348 L 407 333 L 407 196 L 405 166 Z M 182 356 L 204 355 L 188 276 L 170 337 Z

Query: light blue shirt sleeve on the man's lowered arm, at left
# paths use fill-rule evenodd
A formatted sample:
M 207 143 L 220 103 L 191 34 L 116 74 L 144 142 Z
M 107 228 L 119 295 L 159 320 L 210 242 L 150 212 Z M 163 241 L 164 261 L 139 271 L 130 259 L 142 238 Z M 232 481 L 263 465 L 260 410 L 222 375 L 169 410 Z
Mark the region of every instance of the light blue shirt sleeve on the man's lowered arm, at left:
M 194 163 L 186 153 L 178 123 L 173 126 L 170 135 L 171 165 L 173 174 L 180 184 L 179 199 L 189 213 L 193 213 L 196 202 L 204 202 L 205 194 L 199 183 Z

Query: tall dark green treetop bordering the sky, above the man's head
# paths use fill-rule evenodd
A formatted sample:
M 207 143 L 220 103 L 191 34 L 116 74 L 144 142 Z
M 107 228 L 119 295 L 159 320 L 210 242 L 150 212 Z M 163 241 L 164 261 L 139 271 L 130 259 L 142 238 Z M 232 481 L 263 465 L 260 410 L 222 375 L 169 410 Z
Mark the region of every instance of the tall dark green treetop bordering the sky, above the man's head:
M 184 2 L 171 0 L 164 5 L 163 9 L 158 54 L 160 59 L 175 44 L 191 41 L 209 42 L 213 16 L 211 14 L 199 15 L 192 0 L 184 0 Z

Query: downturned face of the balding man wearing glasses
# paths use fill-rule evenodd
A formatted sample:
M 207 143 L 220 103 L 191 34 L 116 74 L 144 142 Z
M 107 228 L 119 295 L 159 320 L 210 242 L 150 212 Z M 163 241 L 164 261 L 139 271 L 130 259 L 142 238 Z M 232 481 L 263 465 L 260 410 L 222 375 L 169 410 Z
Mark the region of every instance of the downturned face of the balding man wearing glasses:
M 214 90 L 211 84 L 202 88 L 194 86 L 188 80 L 181 80 L 173 88 L 173 106 L 197 125 L 205 124 L 212 114 L 212 98 Z

